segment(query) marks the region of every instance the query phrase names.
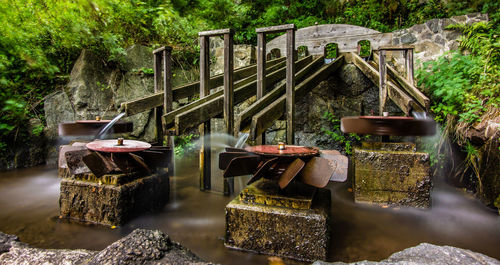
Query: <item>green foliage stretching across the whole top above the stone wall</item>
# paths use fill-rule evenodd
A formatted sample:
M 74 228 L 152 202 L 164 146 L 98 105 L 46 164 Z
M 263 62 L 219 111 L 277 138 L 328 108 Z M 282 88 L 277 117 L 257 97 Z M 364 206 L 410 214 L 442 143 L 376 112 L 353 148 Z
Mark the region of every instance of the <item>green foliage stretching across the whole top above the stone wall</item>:
M 192 67 L 198 64 L 197 32 L 202 30 L 233 28 L 236 43 L 255 44 L 258 27 L 346 23 L 386 32 L 464 12 L 495 14 L 498 5 L 492 0 L 448 5 L 439 0 L 0 0 L 0 143 L 30 133 L 29 118 L 43 121 L 44 98 L 67 83 L 82 49 L 119 65 L 125 47 L 132 44 L 171 45 L 174 65 Z M 491 19 L 497 21 L 498 15 Z M 491 37 L 474 36 L 481 45 Z M 498 51 L 496 45 L 491 48 Z M 498 52 L 482 58 L 497 61 Z M 494 63 L 485 65 L 491 67 L 489 73 L 498 71 Z M 142 73 L 151 74 L 149 69 Z M 495 91 L 482 93 L 491 97 Z M 466 104 L 477 108 L 482 96 Z

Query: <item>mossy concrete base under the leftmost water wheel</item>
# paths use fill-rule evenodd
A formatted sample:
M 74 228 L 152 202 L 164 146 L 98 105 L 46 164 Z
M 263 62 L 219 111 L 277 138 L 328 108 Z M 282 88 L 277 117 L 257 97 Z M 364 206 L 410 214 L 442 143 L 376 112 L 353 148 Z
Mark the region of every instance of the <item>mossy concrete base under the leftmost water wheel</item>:
M 123 176 L 117 177 L 119 180 Z M 62 179 L 59 196 L 61 217 L 110 226 L 121 225 L 143 212 L 161 209 L 168 202 L 169 179 L 166 172 L 134 176 L 134 180 L 122 185 L 120 181 L 109 180 L 114 185 L 84 178 Z

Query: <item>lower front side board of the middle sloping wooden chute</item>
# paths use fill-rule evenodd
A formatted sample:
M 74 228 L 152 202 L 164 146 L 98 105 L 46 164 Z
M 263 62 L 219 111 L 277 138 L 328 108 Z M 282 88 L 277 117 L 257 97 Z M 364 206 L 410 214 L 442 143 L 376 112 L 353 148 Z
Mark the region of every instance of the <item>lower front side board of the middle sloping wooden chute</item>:
M 308 56 L 300 61 L 297 61 L 297 68 L 303 68 L 312 60 L 312 56 Z M 266 87 L 270 87 L 278 80 L 283 79 L 286 74 L 286 68 L 281 68 L 266 76 Z M 248 83 L 234 91 L 234 104 L 239 104 L 251 96 L 256 94 L 257 82 Z M 197 126 L 198 124 L 214 118 L 222 113 L 223 97 L 217 97 L 213 100 L 200 104 L 189 111 L 181 113 L 175 117 L 175 132 L 177 135 Z

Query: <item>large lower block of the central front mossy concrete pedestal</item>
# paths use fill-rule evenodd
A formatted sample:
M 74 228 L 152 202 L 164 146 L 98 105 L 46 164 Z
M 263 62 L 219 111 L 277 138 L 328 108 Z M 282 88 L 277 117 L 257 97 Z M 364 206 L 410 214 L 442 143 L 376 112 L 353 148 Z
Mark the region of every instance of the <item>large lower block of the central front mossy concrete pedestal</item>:
M 251 204 L 236 197 L 226 206 L 225 245 L 303 261 L 325 260 L 329 209 L 330 191 L 325 189 L 316 193 L 311 209 Z

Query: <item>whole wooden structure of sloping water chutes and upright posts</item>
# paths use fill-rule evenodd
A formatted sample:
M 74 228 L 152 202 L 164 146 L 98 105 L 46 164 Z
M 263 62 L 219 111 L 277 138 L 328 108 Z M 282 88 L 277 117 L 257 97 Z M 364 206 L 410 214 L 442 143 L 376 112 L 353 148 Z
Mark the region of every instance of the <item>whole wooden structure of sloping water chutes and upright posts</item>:
M 304 96 L 321 81 L 331 76 L 343 63 L 356 65 L 379 87 L 380 115 L 387 100 L 393 101 L 406 115 L 412 111 L 425 111 L 429 99 L 414 85 L 413 48 L 409 46 L 377 46 L 373 60 L 361 58 L 356 52 L 341 52 L 340 56 L 325 64 L 325 54 L 309 55 L 298 59 L 295 49 L 293 24 L 256 29 L 258 36 L 257 64 L 233 69 L 233 35 L 231 29 L 199 33 L 200 81 L 172 88 L 171 48 L 155 50 L 155 93 L 122 104 L 126 115 L 155 109 L 157 140 L 163 142 L 165 135 L 180 135 L 199 128 L 202 148 L 200 150 L 200 188 L 211 189 L 211 145 L 210 120 L 224 118 L 225 131 L 238 136 L 248 132 L 254 144 L 264 144 L 263 134 L 276 120 L 287 120 L 287 144 L 294 143 L 295 99 Z M 266 34 L 286 32 L 280 38 L 285 42 L 286 56 L 266 62 Z M 375 33 L 349 35 L 349 43 L 358 43 Z M 224 73 L 209 76 L 209 38 L 224 37 Z M 357 36 L 357 37 L 355 37 Z M 380 43 L 386 43 L 383 40 Z M 347 45 L 347 44 L 346 44 Z M 351 44 L 347 46 L 352 46 Z M 321 47 L 321 50 L 325 50 Z M 339 49 L 340 50 L 340 49 Z M 340 50 L 342 51 L 342 50 Z M 388 66 L 386 51 L 401 51 L 405 58 L 406 75 L 403 76 Z M 162 68 L 164 71 L 162 71 Z M 163 75 L 161 74 L 163 72 Z M 282 81 L 285 82 L 282 82 Z M 210 93 L 211 89 L 223 86 L 223 90 Z M 161 87 L 163 87 L 161 89 Z M 199 99 L 179 108 L 172 108 L 172 101 L 193 97 Z M 256 101 L 234 115 L 234 106 L 256 96 Z M 169 143 L 172 144 L 172 143 Z M 224 179 L 224 194 L 229 194 L 231 182 Z

